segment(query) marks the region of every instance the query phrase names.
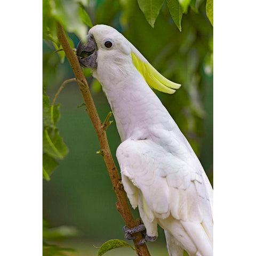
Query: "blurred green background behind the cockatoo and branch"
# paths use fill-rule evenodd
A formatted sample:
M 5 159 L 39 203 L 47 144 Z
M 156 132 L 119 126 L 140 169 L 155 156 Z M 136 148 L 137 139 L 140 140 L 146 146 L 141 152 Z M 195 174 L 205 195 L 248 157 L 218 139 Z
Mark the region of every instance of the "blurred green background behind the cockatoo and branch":
M 199 157 L 212 182 L 213 163 L 213 29 L 205 14 L 205 1 L 199 1 L 199 11 L 192 8 L 183 15 L 180 32 L 175 26 L 164 2 L 155 27 L 152 28 L 141 12 L 137 1 L 90 1 L 86 7 L 93 25 L 106 24 L 116 28 L 165 77 L 181 83 L 173 95 L 156 91 Z M 75 46 L 79 39 L 69 34 Z M 43 83 L 52 101 L 59 86 L 74 77 L 67 59 L 60 63 L 54 47 L 43 42 Z M 84 70 L 99 116 L 103 121 L 110 111 L 100 85 Z M 97 135 L 93 129 L 76 83 L 66 85 L 60 93 L 60 134 L 69 148 L 68 156 L 43 181 L 43 217 L 51 227 L 74 226 L 79 230 L 76 238 L 58 243 L 78 250 L 78 255 L 97 255 L 100 246 L 108 239 L 124 239 L 121 215 L 117 212 L 116 196 L 105 163 L 100 155 Z M 111 117 L 113 120 L 114 117 Z M 121 140 L 115 122 L 108 127 L 111 152 Z M 118 164 L 117 164 L 118 166 Z M 135 216 L 138 211 L 133 211 Z M 167 255 L 161 229 L 156 242 L 148 243 L 151 255 Z M 135 255 L 132 250 L 116 249 L 106 255 Z M 127 254 L 126 254 L 127 253 Z

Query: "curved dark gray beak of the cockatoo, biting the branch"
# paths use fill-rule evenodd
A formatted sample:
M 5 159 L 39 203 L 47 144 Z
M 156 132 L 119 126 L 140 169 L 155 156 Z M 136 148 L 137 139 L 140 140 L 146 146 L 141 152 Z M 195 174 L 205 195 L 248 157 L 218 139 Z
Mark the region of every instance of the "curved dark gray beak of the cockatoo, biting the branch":
M 76 47 L 79 63 L 84 68 L 97 68 L 97 44 L 92 34 L 87 35 L 86 44 L 80 41 Z

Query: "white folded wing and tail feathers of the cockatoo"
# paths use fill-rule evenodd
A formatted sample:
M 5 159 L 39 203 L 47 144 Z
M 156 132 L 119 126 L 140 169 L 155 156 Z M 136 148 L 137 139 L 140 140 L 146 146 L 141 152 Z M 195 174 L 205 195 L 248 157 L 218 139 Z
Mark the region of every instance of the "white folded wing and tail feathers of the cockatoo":
M 210 187 L 206 188 L 200 165 L 193 169 L 193 162 L 187 164 L 184 156 L 173 155 L 151 140 L 122 142 L 117 159 L 124 188 L 132 206 L 139 205 L 146 228 L 153 234 L 153 223 L 158 221 L 190 255 L 211 256 Z

